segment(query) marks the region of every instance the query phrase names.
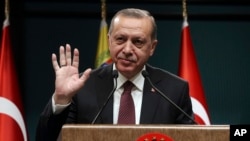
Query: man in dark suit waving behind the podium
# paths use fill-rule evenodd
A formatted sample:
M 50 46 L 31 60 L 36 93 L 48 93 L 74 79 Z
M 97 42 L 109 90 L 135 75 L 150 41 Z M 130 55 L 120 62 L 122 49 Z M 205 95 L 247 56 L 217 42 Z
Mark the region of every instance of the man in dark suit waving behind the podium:
M 36 139 L 56 140 L 65 123 L 92 123 L 105 102 L 106 106 L 94 123 L 120 124 L 120 99 L 126 81 L 133 83 L 134 109 L 130 109 L 135 111 L 133 124 L 192 124 L 188 83 L 147 64 L 157 45 L 156 35 L 155 20 L 149 12 L 133 8 L 117 12 L 108 33 L 114 63 L 95 70 L 86 69 L 80 77 L 78 50 L 74 49 L 72 60 L 70 45 L 61 46 L 59 62 L 52 54 L 55 92 L 40 116 Z M 118 71 L 118 78 L 114 78 L 114 70 Z M 148 73 L 149 80 L 142 71 Z M 150 81 L 174 104 L 164 99 Z M 175 104 L 183 111 L 173 106 Z

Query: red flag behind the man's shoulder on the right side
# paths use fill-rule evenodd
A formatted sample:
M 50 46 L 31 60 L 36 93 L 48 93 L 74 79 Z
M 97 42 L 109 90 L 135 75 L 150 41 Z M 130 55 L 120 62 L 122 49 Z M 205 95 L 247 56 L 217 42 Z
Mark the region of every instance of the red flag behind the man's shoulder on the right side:
M 198 124 L 210 125 L 208 107 L 202 87 L 200 73 L 195 58 L 195 52 L 191 40 L 190 29 L 187 20 L 182 27 L 182 44 L 179 62 L 179 76 L 189 83 L 195 121 Z

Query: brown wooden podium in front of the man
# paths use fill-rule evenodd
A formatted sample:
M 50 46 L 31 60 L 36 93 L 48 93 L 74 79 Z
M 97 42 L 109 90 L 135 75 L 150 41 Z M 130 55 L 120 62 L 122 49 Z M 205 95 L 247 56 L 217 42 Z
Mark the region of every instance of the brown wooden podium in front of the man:
M 229 125 L 86 125 L 66 124 L 62 141 L 137 141 L 145 134 L 160 133 L 173 141 L 229 141 Z M 144 141 L 157 141 L 145 138 Z M 160 141 L 160 140 L 159 140 Z M 161 141 L 164 141 L 163 139 Z

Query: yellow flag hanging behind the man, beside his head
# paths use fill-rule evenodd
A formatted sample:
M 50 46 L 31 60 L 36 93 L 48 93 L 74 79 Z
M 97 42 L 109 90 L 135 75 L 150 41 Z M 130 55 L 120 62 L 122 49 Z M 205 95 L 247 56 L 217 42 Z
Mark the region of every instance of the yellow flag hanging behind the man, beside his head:
M 99 41 L 97 46 L 95 67 L 105 66 L 112 63 L 109 48 L 108 48 L 108 25 L 105 19 L 102 19 L 100 32 L 99 32 Z

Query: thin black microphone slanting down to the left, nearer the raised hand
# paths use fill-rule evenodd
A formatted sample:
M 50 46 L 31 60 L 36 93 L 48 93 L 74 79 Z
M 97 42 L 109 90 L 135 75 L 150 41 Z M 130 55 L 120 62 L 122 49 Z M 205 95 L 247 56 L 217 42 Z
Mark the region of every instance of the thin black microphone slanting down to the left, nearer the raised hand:
M 114 94 L 114 92 L 115 92 L 115 90 L 116 90 L 116 88 L 117 88 L 117 77 L 118 77 L 118 72 L 117 72 L 117 70 L 113 70 L 112 76 L 113 76 L 113 78 L 115 79 L 114 88 L 113 88 L 113 90 L 110 92 L 110 94 L 108 95 L 107 100 L 104 102 L 104 104 L 102 105 L 102 107 L 101 107 L 100 110 L 98 111 L 97 115 L 95 116 L 95 118 L 93 119 L 93 121 L 92 121 L 91 124 L 95 124 L 97 118 L 100 116 L 100 114 L 102 113 L 103 109 L 106 107 L 108 101 L 110 100 L 111 96 Z

